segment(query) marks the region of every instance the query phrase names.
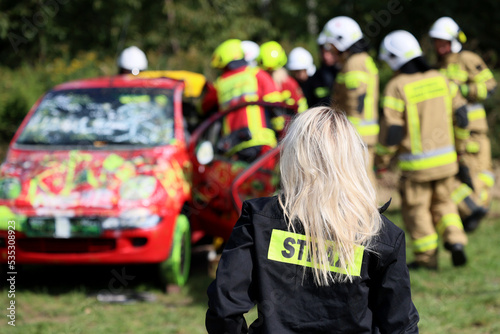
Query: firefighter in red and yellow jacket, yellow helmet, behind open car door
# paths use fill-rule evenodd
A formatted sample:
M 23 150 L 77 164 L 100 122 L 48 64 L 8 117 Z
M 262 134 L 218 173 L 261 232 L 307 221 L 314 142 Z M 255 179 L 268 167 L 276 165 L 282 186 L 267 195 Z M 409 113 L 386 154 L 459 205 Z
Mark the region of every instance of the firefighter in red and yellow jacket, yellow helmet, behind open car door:
M 205 112 L 218 107 L 227 112 L 252 102 L 281 102 L 271 76 L 257 67 L 248 66 L 241 41 L 229 39 L 212 55 L 211 66 L 222 70 L 212 85 L 207 85 L 202 108 Z M 258 105 L 243 106 L 223 118 L 220 150 L 227 156 L 252 162 L 277 144 L 270 116 Z

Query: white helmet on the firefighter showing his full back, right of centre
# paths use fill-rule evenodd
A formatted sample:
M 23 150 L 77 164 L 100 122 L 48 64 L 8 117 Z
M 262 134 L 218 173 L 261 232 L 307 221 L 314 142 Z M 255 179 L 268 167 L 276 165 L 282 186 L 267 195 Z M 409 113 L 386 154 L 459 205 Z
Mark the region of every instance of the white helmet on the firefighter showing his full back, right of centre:
M 417 39 L 408 31 L 396 30 L 385 36 L 380 44 L 379 58 L 393 71 L 397 71 L 410 60 L 422 55 Z

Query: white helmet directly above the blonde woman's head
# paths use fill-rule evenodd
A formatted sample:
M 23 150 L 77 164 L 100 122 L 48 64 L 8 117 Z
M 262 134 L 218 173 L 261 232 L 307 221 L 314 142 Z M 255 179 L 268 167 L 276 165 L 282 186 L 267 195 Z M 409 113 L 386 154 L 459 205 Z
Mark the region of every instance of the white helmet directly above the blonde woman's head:
M 363 38 L 359 24 L 347 16 L 337 16 L 328 21 L 322 33 L 325 34 L 325 42 L 332 43 L 340 52 Z

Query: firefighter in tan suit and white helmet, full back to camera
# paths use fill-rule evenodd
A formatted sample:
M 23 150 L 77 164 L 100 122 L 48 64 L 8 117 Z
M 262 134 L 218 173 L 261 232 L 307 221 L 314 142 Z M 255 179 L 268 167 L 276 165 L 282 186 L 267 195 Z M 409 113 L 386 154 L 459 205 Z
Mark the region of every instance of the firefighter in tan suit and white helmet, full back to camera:
M 396 73 L 383 94 L 376 166 L 384 170 L 398 153 L 403 221 L 415 255 L 409 267 L 437 268 L 438 235 L 451 252 L 453 265 L 465 265 L 467 236 L 451 200 L 458 172 L 453 108 L 462 107 L 464 100 L 456 85 L 430 69 L 409 32 L 387 35 L 380 58 Z

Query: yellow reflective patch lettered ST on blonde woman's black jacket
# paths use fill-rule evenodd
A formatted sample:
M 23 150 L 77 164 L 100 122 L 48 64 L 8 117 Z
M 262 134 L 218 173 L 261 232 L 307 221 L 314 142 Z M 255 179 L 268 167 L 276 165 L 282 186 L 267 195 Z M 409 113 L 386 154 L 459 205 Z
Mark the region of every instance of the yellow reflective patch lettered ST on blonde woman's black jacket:
M 354 248 L 354 261 L 351 266 L 347 267 L 347 271 L 338 267 L 338 254 L 333 254 L 334 243 L 332 241 L 326 242 L 328 247 L 328 260 L 329 270 L 341 274 L 349 274 L 352 276 L 361 275 L 361 266 L 363 263 L 363 246 L 356 246 Z M 319 268 L 312 263 L 311 252 L 309 245 L 306 242 L 306 236 L 296 234 L 288 231 L 273 230 L 271 241 L 269 242 L 269 250 L 267 258 L 272 261 L 281 263 L 295 264 L 298 266 Z

